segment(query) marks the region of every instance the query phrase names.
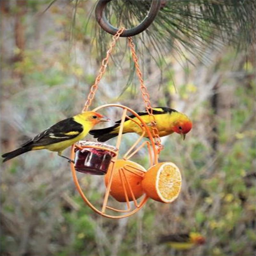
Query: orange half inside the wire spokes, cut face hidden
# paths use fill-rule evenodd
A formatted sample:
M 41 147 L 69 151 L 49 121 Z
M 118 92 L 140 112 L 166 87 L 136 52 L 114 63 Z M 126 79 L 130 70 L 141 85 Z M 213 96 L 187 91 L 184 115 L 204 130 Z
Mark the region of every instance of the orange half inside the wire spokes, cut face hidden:
M 108 186 L 111 169 L 113 168 L 113 178 L 110 187 L 110 195 L 119 202 L 132 201 L 143 195 L 142 177 L 146 170 L 140 164 L 129 160 L 118 159 L 110 164 L 105 175 L 105 185 Z M 132 191 L 131 191 L 132 190 Z M 134 197 L 133 197 L 134 196 Z

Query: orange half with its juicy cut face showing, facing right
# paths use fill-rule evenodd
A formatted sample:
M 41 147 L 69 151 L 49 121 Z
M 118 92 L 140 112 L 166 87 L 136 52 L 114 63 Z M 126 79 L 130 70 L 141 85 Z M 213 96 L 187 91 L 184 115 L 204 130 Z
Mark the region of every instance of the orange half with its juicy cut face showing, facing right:
M 143 177 L 142 188 L 150 198 L 156 201 L 173 202 L 181 188 L 179 168 L 171 162 L 153 165 Z

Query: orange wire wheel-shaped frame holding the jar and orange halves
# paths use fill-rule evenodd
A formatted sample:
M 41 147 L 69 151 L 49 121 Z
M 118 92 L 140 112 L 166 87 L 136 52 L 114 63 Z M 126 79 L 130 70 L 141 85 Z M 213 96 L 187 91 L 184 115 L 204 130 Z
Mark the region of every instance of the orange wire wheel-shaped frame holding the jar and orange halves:
M 120 168 L 119 169 L 119 176 L 120 176 L 120 179 L 121 179 L 121 182 L 122 182 L 122 186 L 123 186 L 123 189 L 124 189 L 124 195 L 125 195 L 125 199 L 126 199 L 126 205 L 127 205 L 127 209 L 126 210 L 120 210 L 120 209 L 116 209 L 114 207 L 111 207 L 108 205 L 108 198 L 109 198 L 109 193 L 110 193 L 110 188 L 111 188 L 111 183 L 112 183 L 112 179 L 113 179 L 113 170 L 114 170 L 114 167 L 115 167 L 115 162 L 118 158 L 118 155 L 119 155 L 119 148 L 120 148 L 120 144 L 121 144 L 121 138 L 122 138 L 122 132 L 123 132 L 123 129 L 124 129 L 124 121 L 125 119 L 130 119 L 132 120 L 133 122 L 135 122 L 137 125 L 140 126 L 141 130 L 142 130 L 142 134 L 140 135 L 140 137 L 133 143 L 133 145 L 127 150 L 127 152 L 124 154 L 124 156 L 122 157 L 122 159 L 124 160 L 128 160 L 130 159 L 132 156 L 134 156 L 141 148 L 143 147 L 147 147 L 148 149 L 148 153 L 149 153 L 149 162 L 150 162 L 150 166 L 154 165 L 154 164 L 157 164 L 158 163 L 158 153 L 157 153 L 157 149 L 156 149 L 156 146 L 155 146 L 155 142 L 154 142 L 154 138 L 147 126 L 147 124 L 143 121 L 143 119 L 141 119 L 141 117 L 135 112 L 133 111 L 131 108 L 128 108 L 126 106 L 123 106 L 123 105 L 119 105 L 119 104 L 105 104 L 105 105 L 102 105 L 102 106 L 99 106 L 97 108 L 94 108 L 92 111 L 98 111 L 99 109 L 102 109 L 102 108 L 107 108 L 107 107 L 118 107 L 118 108 L 123 108 L 123 114 L 122 114 L 122 118 L 121 118 L 121 123 L 120 123 L 120 129 L 119 129 L 119 133 L 118 133 L 118 136 L 117 136 L 117 141 L 116 141 L 116 148 L 117 148 L 117 152 L 115 152 L 115 156 L 112 158 L 111 160 L 111 168 L 109 168 L 108 172 L 110 172 L 110 176 L 109 176 L 109 180 L 108 180 L 108 186 L 106 188 L 106 192 L 105 192 L 105 196 L 104 196 L 104 200 L 103 200 L 103 203 L 102 203 L 102 208 L 101 210 L 97 209 L 88 199 L 87 197 L 84 195 L 84 192 L 82 190 L 82 188 L 80 187 L 80 184 L 78 182 L 78 179 L 77 179 L 77 176 L 76 176 L 76 170 L 75 170 L 75 166 L 73 163 L 70 163 L 70 166 L 71 166 L 71 172 L 72 172 L 72 176 L 73 176 L 73 180 L 74 180 L 74 183 L 76 185 L 76 188 L 79 192 L 79 194 L 81 195 L 81 197 L 83 198 L 84 202 L 86 204 L 89 205 L 89 207 L 92 208 L 92 210 L 94 210 L 95 212 L 97 212 L 98 214 L 104 216 L 104 217 L 107 217 L 107 218 L 111 218 L 111 219 L 121 219 L 121 218 L 125 218 L 125 217 L 128 217 L 128 216 L 131 216 L 132 214 L 134 214 L 135 212 L 139 211 L 140 208 L 143 207 L 144 204 L 146 204 L 147 200 L 148 200 L 148 196 L 147 195 L 144 195 L 143 198 L 141 199 L 140 202 L 138 202 L 134 196 L 134 193 L 132 191 L 132 188 L 131 188 L 131 185 L 129 184 L 128 180 L 127 180 L 127 177 L 125 175 L 125 171 L 126 172 L 132 172 L 133 174 L 135 175 L 138 175 L 140 177 L 143 177 L 144 175 L 144 170 L 141 170 L 141 169 L 138 169 L 138 168 L 135 168 L 134 166 L 132 165 L 129 165 L 129 162 L 123 166 L 123 168 Z M 137 122 L 135 120 L 133 120 L 132 118 L 130 118 L 129 116 L 127 116 L 127 111 L 131 112 L 132 115 L 136 116 L 138 118 L 138 120 L 140 121 Z M 140 146 L 138 146 L 136 148 L 136 146 L 140 143 L 140 141 L 142 140 L 142 138 L 144 137 L 144 135 L 147 134 L 147 137 L 148 137 L 148 140 L 147 141 L 144 141 Z M 75 158 L 75 147 L 76 148 L 85 148 L 85 147 L 81 147 L 80 145 L 77 145 L 77 144 L 74 144 L 71 148 L 71 155 L 70 155 L 70 158 L 74 160 Z M 108 151 L 111 151 L 107 148 L 104 148 L 104 147 L 100 147 L 100 146 L 90 146 L 90 148 L 99 148 L 99 149 L 105 149 L 105 150 L 108 150 Z M 126 184 L 126 185 L 125 185 Z M 128 187 L 129 189 L 129 192 L 131 193 L 132 195 L 132 201 L 134 203 L 134 209 L 132 209 L 131 207 L 131 204 L 130 204 L 130 201 L 128 199 L 128 194 L 127 194 L 127 189 L 126 187 Z M 123 204 L 122 204 L 123 205 Z M 111 215 L 111 214 L 107 214 L 106 213 L 106 209 L 108 210 L 112 210 L 112 211 L 115 211 L 115 212 L 119 212 L 119 213 L 123 213 L 122 215 Z

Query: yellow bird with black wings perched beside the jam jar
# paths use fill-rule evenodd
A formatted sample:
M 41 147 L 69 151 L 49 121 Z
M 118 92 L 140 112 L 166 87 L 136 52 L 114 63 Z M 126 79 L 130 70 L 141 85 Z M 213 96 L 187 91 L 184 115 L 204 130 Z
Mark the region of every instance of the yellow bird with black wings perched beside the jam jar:
M 20 148 L 2 155 L 3 162 L 31 150 L 48 149 L 58 152 L 58 155 L 71 161 L 61 153 L 65 148 L 81 140 L 88 134 L 95 124 L 106 122 L 109 119 L 97 112 L 86 111 L 73 117 L 64 119 L 44 132 L 39 133 Z

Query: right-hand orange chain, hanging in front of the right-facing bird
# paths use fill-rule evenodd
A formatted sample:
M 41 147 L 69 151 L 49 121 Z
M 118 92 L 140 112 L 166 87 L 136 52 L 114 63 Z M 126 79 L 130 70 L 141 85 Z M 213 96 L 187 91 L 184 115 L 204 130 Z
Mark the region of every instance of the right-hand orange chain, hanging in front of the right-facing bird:
M 149 119 L 150 119 L 150 122 L 151 122 L 151 129 L 152 129 L 152 133 L 153 133 L 153 138 L 155 140 L 155 144 L 157 146 L 157 150 L 158 150 L 158 154 L 159 154 L 160 151 L 164 147 L 161 144 L 159 131 L 158 131 L 157 126 L 156 126 L 156 119 L 155 119 L 155 116 L 153 115 L 153 108 L 151 107 L 151 103 L 150 103 L 150 99 L 149 99 L 148 89 L 144 84 L 144 81 L 143 81 L 143 78 L 142 78 L 142 73 L 140 71 L 140 66 L 139 66 L 139 63 L 138 63 L 138 57 L 137 57 L 136 52 L 135 52 L 135 46 L 134 46 L 134 43 L 132 41 L 132 37 L 130 37 L 130 36 L 128 37 L 128 43 L 129 43 L 129 46 L 131 48 L 132 59 L 133 59 L 134 64 L 135 64 L 136 73 L 137 73 L 138 78 L 140 80 L 140 91 L 141 91 L 142 98 L 143 98 L 143 101 L 144 101 L 145 106 L 146 106 L 146 111 L 148 112 L 148 115 L 149 115 Z

